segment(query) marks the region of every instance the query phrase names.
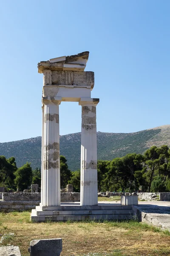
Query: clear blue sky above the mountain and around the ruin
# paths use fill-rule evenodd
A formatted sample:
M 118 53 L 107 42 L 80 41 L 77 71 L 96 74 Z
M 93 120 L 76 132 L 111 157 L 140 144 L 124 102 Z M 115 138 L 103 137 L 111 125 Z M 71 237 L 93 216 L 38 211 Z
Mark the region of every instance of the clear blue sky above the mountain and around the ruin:
M 6 0 L 0 3 L 0 142 L 41 135 L 37 63 L 89 51 L 97 130 L 170 124 L 169 0 Z M 60 134 L 81 131 L 81 106 L 62 102 Z

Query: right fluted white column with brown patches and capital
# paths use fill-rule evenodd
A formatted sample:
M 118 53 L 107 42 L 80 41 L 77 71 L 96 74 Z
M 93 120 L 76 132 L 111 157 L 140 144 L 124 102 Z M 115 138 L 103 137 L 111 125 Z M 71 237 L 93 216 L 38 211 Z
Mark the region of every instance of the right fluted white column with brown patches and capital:
M 97 137 L 96 105 L 99 99 L 81 98 L 81 181 L 80 205 L 97 205 Z

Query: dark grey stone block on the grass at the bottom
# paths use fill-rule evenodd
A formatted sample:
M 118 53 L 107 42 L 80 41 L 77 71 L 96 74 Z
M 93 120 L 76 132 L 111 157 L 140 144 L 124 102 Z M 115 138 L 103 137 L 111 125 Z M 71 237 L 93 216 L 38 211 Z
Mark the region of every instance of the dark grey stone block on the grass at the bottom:
M 28 251 L 30 256 L 59 256 L 62 251 L 62 239 L 32 240 Z

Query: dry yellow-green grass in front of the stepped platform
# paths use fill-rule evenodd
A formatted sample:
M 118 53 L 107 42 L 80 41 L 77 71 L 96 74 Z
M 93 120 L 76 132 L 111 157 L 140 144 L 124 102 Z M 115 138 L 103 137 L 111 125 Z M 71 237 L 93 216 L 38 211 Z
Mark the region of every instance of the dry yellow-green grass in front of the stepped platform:
M 18 245 L 28 256 L 33 239 L 62 238 L 61 256 L 170 256 L 170 232 L 137 221 L 30 221 L 30 212 L 0 212 L 1 245 Z

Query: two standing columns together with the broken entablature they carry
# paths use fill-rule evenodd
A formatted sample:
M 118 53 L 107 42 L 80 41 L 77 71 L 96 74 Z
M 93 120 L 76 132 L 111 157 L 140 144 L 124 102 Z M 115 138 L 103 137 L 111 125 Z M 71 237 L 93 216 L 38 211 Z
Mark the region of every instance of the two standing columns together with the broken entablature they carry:
M 91 98 L 94 72 L 84 71 L 88 55 L 89 52 L 82 52 L 38 64 L 38 72 L 43 73 L 42 211 L 60 206 L 59 105 L 65 101 L 82 106 L 80 205 L 98 204 L 96 105 L 99 99 Z

